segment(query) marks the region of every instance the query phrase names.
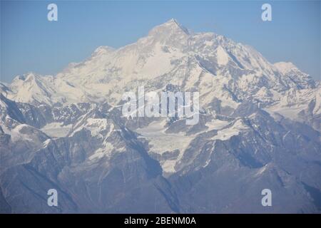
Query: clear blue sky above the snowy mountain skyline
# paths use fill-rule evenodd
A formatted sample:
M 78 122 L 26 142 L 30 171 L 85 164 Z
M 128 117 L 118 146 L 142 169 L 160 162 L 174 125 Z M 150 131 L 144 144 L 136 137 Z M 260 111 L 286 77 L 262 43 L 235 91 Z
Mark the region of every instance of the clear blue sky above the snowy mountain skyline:
M 56 3 L 58 21 L 47 20 Z M 272 21 L 261 20 L 263 3 Z M 320 79 L 320 1 L 1 1 L 1 78 L 56 74 L 98 46 L 135 42 L 171 18 L 249 44 Z

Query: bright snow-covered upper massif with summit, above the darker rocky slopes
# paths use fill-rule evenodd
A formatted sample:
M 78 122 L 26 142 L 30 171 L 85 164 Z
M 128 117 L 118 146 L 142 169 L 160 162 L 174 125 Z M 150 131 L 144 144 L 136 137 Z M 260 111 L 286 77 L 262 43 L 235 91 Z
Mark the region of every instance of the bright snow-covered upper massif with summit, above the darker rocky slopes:
M 244 100 L 270 105 L 291 88 L 317 86 L 292 63 L 269 63 L 248 45 L 215 33 L 193 33 L 170 19 L 136 43 L 118 49 L 100 46 L 57 76 L 26 73 L 1 90 L 26 103 L 116 105 L 125 91 L 143 85 L 160 90 L 169 84 L 198 90 L 203 107 L 217 98 L 231 108 Z

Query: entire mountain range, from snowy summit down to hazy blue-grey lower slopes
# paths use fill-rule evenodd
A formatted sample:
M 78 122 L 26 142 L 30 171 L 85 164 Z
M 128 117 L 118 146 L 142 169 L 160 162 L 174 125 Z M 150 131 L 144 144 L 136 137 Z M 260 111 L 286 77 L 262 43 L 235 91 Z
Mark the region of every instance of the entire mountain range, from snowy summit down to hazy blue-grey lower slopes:
M 199 122 L 123 117 L 138 86 L 198 91 Z M 17 76 L 0 83 L 1 212 L 321 212 L 320 91 L 174 19 L 56 76 Z

